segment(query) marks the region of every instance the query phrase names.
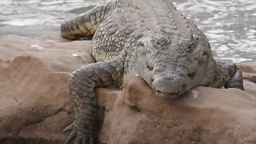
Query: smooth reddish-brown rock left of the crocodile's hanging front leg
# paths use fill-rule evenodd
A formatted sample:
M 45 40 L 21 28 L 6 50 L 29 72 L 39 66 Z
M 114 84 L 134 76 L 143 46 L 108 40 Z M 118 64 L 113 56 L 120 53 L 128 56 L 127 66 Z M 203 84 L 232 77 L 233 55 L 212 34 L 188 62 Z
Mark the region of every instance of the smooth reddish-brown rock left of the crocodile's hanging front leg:
M 61 131 L 74 118 L 68 109 L 68 78 L 93 62 L 89 47 L 90 42 L 49 36 L 0 38 L 0 143 L 66 139 Z

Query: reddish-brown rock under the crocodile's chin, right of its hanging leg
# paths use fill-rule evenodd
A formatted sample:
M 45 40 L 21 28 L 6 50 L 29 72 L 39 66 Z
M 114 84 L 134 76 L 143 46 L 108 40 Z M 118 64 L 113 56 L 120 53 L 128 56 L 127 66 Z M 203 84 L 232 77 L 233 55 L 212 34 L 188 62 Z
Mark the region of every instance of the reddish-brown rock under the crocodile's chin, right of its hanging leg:
M 158 98 L 141 78 L 126 76 L 123 91 L 106 95 L 100 141 L 255 143 L 255 104 L 256 98 L 242 90 L 203 86 L 170 101 Z

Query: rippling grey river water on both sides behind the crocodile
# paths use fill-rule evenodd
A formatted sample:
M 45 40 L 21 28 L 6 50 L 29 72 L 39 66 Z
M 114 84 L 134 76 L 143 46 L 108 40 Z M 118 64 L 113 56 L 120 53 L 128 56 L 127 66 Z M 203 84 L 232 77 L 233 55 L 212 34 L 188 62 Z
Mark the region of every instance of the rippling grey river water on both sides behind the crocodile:
M 105 0 L 1 0 L 0 36 L 59 35 L 74 18 Z M 233 62 L 256 61 L 256 0 L 173 0 L 210 40 L 214 55 Z

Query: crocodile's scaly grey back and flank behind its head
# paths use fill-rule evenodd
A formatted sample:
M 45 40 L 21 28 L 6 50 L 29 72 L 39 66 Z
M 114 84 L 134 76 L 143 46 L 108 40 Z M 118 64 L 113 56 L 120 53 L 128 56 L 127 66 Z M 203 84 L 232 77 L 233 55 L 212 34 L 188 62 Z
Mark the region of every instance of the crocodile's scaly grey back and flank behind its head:
M 108 61 L 125 51 L 132 53 L 145 34 L 200 34 L 198 27 L 176 10 L 170 0 L 118 0 L 109 4 L 109 13 L 94 34 L 91 54 Z

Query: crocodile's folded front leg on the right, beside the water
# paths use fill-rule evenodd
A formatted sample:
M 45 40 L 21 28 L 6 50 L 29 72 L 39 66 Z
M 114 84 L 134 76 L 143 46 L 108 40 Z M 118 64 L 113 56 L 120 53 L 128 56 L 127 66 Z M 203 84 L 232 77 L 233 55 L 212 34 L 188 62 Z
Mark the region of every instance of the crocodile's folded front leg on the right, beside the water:
M 232 62 L 218 61 L 215 65 L 215 77 L 212 86 L 244 90 L 242 71 Z

